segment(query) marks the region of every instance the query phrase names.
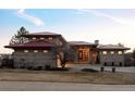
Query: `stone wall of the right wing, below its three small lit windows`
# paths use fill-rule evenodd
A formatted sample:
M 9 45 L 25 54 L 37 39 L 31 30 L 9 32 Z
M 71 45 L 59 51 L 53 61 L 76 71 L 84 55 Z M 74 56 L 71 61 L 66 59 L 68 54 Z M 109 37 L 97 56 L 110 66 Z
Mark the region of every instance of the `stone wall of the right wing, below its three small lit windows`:
M 111 54 L 110 51 L 108 51 L 107 54 L 102 54 L 102 51 L 100 51 L 100 63 L 101 65 L 107 66 L 123 66 L 124 52 L 122 54 L 118 54 L 118 51 L 114 51 L 114 54 Z

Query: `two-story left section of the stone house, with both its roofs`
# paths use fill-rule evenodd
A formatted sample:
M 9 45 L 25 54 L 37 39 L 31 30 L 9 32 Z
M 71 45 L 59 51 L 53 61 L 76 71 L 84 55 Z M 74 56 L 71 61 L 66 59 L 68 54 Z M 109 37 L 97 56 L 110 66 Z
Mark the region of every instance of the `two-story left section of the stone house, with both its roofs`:
M 28 42 L 5 46 L 5 48 L 14 49 L 14 67 L 45 67 L 46 65 L 56 67 L 58 65 L 54 49 L 66 46 L 66 40 L 60 34 L 44 31 L 23 37 L 28 38 Z

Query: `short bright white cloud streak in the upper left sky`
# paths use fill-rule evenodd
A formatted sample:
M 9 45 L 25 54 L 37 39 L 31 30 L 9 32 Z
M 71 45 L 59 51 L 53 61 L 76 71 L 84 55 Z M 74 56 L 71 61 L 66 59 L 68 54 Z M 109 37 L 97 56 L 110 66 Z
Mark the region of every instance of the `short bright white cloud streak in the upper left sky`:
M 24 9 L 17 10 L 17 15 L 24 20 L 29 21 L 30 23 L 35 24 L 36 26 L 44 25 L 44 22 L 40 18 L 25 13 Z

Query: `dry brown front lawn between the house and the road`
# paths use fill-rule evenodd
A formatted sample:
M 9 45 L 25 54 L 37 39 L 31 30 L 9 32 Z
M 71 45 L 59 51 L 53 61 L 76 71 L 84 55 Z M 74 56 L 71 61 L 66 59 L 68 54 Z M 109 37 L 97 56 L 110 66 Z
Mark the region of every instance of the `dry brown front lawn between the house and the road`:
M 111 72 L 60 72 L 0 70 L 0 81 L 46 81 L 46 83 L 81 83 L 135 85 L 135 74 Z

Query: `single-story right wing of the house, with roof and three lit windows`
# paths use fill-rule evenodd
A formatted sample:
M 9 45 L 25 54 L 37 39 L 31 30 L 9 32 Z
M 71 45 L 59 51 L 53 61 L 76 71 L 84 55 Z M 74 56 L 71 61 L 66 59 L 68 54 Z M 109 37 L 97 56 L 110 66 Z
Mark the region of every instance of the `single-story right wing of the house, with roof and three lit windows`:
M 124 54 L 130 48 L 122 45 L 100 45 L 99 50 L 100 64 L 105 66 L 124 66 Z

